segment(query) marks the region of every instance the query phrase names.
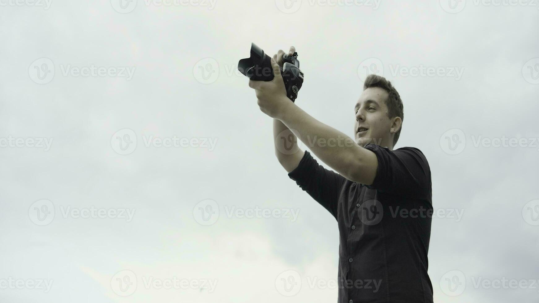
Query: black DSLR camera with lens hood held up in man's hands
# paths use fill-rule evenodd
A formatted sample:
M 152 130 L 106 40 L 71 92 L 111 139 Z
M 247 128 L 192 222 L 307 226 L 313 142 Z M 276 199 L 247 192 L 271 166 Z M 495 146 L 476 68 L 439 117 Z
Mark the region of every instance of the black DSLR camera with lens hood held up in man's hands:
M 282 80 L 285 81 L 286 95 L 294 102 L 303 84 L 298 53 L 282 55 L 282 62 L 281 75 Z M 272 81 L 274 77 L 271 57 L 254 43 L 251 43 L 251 57 L 239 60 L 238 70 L 255 81 Z

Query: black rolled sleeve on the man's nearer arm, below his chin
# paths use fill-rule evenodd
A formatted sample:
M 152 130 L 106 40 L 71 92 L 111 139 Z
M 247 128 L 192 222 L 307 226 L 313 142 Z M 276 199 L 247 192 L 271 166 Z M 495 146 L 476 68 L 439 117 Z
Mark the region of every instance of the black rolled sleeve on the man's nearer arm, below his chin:
M 365 145 L 376 154 L 376 177 L 368 188 L 385 193 L 405 193 L 423 196 L 431 188 L 431 170 L 423 152 L 415 147 L 400 147 L 390 151 L 369 143 Z

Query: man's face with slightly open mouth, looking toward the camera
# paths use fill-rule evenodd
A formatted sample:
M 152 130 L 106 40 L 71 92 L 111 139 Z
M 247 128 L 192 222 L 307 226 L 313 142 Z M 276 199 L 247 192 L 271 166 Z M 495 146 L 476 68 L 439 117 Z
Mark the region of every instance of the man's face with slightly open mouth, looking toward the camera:
M 388 117 L 388 107 L 385 100 L 389 93 L 383 88 L 371 87 L 363 91 L 356 103 L 354 113 L 354 135 L 356 143 L 365 146 L 374 143 L 380 146 L 390 146 L 391 119 Z M 358 129 L 361 128 L 361 132 Z M 363 128 L 367 129 L 363 131 Z

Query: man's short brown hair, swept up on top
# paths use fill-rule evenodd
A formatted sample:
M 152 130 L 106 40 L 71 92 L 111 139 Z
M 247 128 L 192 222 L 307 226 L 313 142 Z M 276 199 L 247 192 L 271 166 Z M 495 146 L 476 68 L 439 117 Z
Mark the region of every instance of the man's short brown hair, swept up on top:
M 388 117 L 390 119 L 394 117 L 400 117 L 400 119 L 404 121 L 403 101 L 400 100 L 400 95 L 395 89 L 395 87 L 391 85 L 391 82 L 386 80 L 382 76 L 371 74 L 367 76 L 367 79 L 365 79 L 365 83 L 363 84 L 363 90 L 370 87 L 379 87 L 387 91 L 389 93 L 389 96 L 387 100 L 385 100 L 385 105 L 386 107 L 388 107 Z M 395 133 L 395 137 L 393 137 L 393 146 L 397 144 L 397 141 L 400 136 L 400 130 L 402 129 L 403 126 L 401 123 L 399 130 Z

